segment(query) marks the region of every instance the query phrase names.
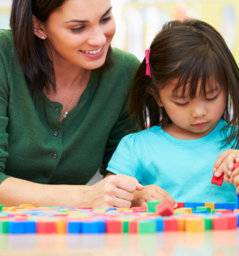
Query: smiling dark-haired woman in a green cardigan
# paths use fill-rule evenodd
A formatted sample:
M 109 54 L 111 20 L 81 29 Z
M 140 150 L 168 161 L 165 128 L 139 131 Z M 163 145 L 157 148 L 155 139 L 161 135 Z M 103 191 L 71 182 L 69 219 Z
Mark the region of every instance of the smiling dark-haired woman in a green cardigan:
M 130 131 L 139 61 L 110 47 L 110 0 L 13 0 L 11 29 L 0 32 L 0 204 L 130 207 L 135 178 L 83 186 L 100 165 L 107 175 Z

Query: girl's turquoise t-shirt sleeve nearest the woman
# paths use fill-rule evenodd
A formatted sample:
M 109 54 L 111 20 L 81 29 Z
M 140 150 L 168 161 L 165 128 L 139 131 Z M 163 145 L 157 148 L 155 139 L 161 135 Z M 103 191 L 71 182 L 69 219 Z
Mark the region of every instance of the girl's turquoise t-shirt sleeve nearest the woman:
M 119 143 L 109 161 L 107 171 L 114 174 L 129 175 L 143 181 L 142 152 L 136 134 L 125 136 Z

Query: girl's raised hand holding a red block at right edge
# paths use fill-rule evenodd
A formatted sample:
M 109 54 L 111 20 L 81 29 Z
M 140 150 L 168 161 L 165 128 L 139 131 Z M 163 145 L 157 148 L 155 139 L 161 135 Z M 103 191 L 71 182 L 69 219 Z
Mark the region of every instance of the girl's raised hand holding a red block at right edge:
M 233 183 L 233 179 L 235 178 L 235 175 L 232 175 L 234 173 L 234 163 L 239 163 L 239 150 L 229 149 L 224 151 L 217 157 L 217 161 L 213 166 L 214 175 L 219 177 L 224 173 L 225 182 Z

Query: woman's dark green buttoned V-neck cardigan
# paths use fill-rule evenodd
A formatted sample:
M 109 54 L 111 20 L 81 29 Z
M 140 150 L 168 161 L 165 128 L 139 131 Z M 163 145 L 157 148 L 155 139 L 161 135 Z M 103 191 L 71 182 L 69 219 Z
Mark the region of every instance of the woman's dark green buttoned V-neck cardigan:
M 0 30 L 0 183 L 12 176 L 42 184 L 86 184 L 106 167 L 130 133 L 128 95 L 139 60 L 113 48 L 114 67 L 92 70 L 78 105 L 59 125 L 62 105 L 26 83 L 12 44 Z

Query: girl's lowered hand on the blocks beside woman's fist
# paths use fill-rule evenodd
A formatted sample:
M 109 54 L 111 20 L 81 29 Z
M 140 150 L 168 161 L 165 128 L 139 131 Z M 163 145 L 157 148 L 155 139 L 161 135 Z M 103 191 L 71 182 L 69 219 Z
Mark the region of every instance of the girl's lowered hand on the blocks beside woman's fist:
M 147 201 L 167 199 L 174 208 L 177 208 L 177 203 L 167 191 L 157 185 L 144 186 L 142 191 L 135 191 L 132 200 L 132 206 L 147 207 Z

